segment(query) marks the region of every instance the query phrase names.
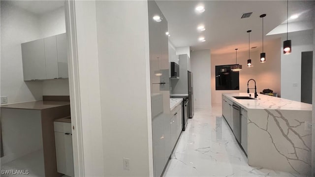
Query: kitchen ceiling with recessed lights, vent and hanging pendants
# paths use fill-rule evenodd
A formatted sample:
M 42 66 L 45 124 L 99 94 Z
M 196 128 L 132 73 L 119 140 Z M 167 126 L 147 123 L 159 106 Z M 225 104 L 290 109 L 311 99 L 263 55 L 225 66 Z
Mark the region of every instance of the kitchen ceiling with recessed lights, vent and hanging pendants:
M 248 50 L 248 33 L 251 29 L 251 47 L 261 46 L 262 19 L 264 34 L 286 22 L 286 0 L 158 0 L 157 4 L 168 21 L 170 41 L 176 47 L 190 46 L 190 50 L 211 49 L 212 54 Z M 194 8 L 202 4 L 205 12 L 197 14 Z M 310 20 L 314 14 L 315 1 L 289 1 L 290 15 L 299 13 L 300 17 L 289 22 Z M 311 11 L 313 10 L 313 12 Z M 253 12 L 251 17 L 241 19 L 243 13 Z M 307 12 L 307 13 L 306 13 Z M 197 26 L 204 25 L 205 31 L 198 31 Z M 205 37 L 206 42 L 199 42 Z M 279 35 L 264 36 L 268 41 Z

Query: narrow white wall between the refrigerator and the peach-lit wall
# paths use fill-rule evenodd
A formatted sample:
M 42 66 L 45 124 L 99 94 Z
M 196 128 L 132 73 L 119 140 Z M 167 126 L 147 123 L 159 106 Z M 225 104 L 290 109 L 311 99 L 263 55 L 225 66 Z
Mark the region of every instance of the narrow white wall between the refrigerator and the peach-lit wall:
M 191 52 L 194 108 L 211 108 L 211 57 L 210 50 Z M 213 86 L 213 85 L 212 85 Z

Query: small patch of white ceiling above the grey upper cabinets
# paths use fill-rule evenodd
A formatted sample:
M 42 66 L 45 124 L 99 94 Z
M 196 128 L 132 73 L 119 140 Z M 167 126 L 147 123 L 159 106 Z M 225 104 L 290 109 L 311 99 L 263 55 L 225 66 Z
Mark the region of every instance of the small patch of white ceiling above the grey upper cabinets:
M 41 15 L 64 6 L 64 0 L 10 0 L 10 4 Z

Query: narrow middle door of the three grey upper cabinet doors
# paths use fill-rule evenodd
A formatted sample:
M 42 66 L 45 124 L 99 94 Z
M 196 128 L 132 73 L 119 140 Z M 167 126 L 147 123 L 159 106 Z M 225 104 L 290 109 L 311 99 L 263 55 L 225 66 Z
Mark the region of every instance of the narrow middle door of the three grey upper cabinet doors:
M 46 79 L 57 79 L 58 58 L 56 36 L 44 38 L 45 59 L 46 59 Z

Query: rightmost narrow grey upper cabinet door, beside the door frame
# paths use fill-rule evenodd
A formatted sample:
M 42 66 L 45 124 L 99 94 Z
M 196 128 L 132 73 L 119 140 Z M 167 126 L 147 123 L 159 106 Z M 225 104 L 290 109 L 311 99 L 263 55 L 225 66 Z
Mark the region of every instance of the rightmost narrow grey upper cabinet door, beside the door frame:
M 68 57 L 66 33 L 59 34 L 57 38 L 58 74 L 59 78 L 68 78 Z

